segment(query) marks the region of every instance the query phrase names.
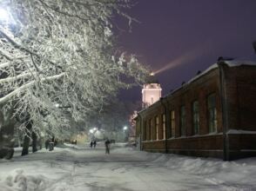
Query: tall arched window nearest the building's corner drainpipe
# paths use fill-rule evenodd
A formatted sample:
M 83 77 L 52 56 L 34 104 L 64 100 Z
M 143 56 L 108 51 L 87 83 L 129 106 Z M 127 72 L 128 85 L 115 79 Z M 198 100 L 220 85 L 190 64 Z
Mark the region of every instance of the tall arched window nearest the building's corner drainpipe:
M 216 95 L 211 94 L 207 97 L 207 112 L 208 112 L 208 126 L 209 133 L 217 131 L 217 109 L 216 109 Z

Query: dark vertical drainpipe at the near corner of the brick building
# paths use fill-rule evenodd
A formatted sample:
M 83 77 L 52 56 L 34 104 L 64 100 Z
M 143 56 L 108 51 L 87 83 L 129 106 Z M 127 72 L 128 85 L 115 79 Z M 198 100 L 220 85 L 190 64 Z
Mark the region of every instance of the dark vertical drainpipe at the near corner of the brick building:
M 219 87 L 220 87 L 220 98 L 221 98 L 221 109 L 222 109 L 222 124 L 223 124 L 223 161 L 229 161 L 229 142 L 228 142 L 228 106 L 226 100 L 226 76 L 225 76 L 225 65 L 224 61 L 219 61 Z

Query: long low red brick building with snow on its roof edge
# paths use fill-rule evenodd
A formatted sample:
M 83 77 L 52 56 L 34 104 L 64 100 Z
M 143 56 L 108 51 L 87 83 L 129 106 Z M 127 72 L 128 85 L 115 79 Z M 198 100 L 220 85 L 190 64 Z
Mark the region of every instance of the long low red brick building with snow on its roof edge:
M 219 61 L 138 112 L 140 148 L 225 161 L 256 155 L 255 64 Z

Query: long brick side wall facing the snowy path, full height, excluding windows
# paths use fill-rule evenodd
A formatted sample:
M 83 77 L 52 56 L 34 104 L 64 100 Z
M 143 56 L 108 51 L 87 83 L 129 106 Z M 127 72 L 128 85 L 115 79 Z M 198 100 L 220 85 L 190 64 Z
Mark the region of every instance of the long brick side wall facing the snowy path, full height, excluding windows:
M 207 96 L 216 95 L 217 131 L 209 135 L 207 122 Z M 169 152 L 185 155 L 209 155 L 222 157 L 222 115 L 219 96 L 219 69 L 200 76 L 195 81 L 183 85 L 162 101 L 145 111 L 143 118 L 143 149 L 152 152 Z M 194 134 L 192 127 L 192 102 L 199 101 L 199 133 Z M 165 106 L 163 105 L 165 103 Z M 185 106 L 185 135 L 180 132 L 180 109 Z M 166 107 L 166 132 L 163 117 Z M 171 111 L 175 113 L 175 135 L 171 135 Z M 158 140 L 156 139 L 156 121 L 158 116 Z M 150 125 L 152 121 L 152 126 Z M 168 121 L 168 122 L 167 122 Z M 150 130 L 151 129 L 151 130 Z M 164 134 L 167 140 L 164 139 Z M 205 154 L 205 150 L 207 150 Z

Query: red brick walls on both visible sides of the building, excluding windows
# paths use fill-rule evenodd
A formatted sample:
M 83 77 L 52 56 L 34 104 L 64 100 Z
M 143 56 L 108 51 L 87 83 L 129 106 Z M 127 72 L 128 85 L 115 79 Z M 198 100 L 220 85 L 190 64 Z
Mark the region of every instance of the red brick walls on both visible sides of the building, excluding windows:
M 256 131 L 256 68 L 252 66 L 228 67 L 225 66 L 225 88 L 228 109 L 228 129 L 243 129 Z M 207 116 L 207 96 L 215 93 L 217 108 L 217 132 L 209 135 Z M 199 135 L 193 135 L 192 128 L 192 102 L 199 101 Z M 161 102 L 153 104 L 149 109 L 143 111 L 143 122 L 149 126 L 150 120 L 155 126 L 155 116 L 159 118 L 158 138 L 159 141 L 143 142 L 143 149 L 148 151 L 161 151 L 185 154 L 222 157 L 223 149 L 223 122 L 222 104 L 219 86 L 219 69 L 212 69 L 200 76 L 193 82 L 185 84 L 180 89 L 165 97 L 167 115 L 175 111 L 175 137 L 165 142 L 163 139 L 162 114 L 165 107 Z M 180 137 L 180 107 L 185 106 L 185 137 Z M 170 121 L 166 124 L 168 132 L 171 131 Z M 152 138 L 156 139 L 155 128 L 152 127 Z M 148 131 L 149 129 L 146 128 Z M 148 132 L 147 132 L 148 135 Z M 168 135 L 166 135 L 169 137 Z M 149 139 L 147 139 L 149 140 Z M 256 135 L 228 135 L 228 148 L 230 159 L 254 155 L 256 149 Z M 246 151 L 246 150 L 251 151 Z M 256 155 L 256 152 L 255 152 Z

